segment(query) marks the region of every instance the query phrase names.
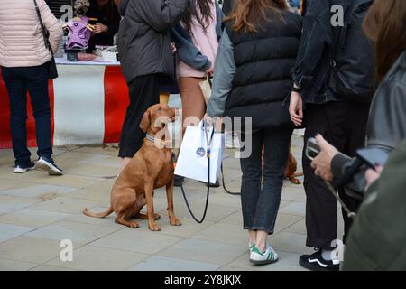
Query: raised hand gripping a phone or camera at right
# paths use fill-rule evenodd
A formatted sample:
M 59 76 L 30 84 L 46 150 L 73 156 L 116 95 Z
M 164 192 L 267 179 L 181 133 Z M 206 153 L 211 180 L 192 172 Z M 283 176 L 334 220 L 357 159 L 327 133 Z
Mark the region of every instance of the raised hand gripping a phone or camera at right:
M 315 170 L 315 174 L 320 176 L 323 180 L 333 181 L 333 173 L 331 172 L 331 161 L 334 156 L 338 154 L 337 148 L 328 142 L 321 135 L 316 135 L 318 146 L 320 147 L 320 154 L 311 162 L 311 167 Z

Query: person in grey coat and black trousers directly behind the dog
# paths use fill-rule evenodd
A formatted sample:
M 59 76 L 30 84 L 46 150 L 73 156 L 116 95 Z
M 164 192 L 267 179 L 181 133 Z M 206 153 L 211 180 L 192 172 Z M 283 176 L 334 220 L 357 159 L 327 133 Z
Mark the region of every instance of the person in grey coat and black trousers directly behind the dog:
M 118 54 L 130 95 L 125 113 L 120 149 L 122 168 L 143 144 L 139 127 L 148 107 L 160 102 L 159 87 L 174 78 L 171 27 L 179 23 L 189 0 L 121 0 L 124 16 L 118 31 Z

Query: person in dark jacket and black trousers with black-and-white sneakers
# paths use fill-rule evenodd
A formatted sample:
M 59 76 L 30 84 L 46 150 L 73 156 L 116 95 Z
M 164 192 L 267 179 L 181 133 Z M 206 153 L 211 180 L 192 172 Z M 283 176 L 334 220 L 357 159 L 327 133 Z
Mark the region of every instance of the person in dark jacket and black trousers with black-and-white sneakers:
M 294 87 L 291 91 L 290 112 L 291 119 L 296 126 L 306 127 L 304 144 L 310 137 L 321 134 L 328 142 L 334 144 L 343 153 L 354 156 L 358 148 L 364 146 L 365 127 L 368 119 L 371 100 L 374 97 L 374 55 L 369 54 L 371 42 L 361 34 L 357 39 L 365 39 L 363 43 L 355 43 L 362 47 L 356 51 L 363 51 L 370 56 L 363 63 L 352 65 L 353 80 L 361 79 L 358 70 L 364 72 L 371 68 L 371 72 L 359 86 L 368 87 L 369 91 L 363 97 L 357 91 L 343 95 L 345 86 L 338 87 L 331 81 L 336 69 L 335 61 L 337 49 L 342 47 L 345 35 L 342 27 L 331 24 L 331 6 L 343 5 L 348 11 L 356 0 L 307 0 L 304 1 L 303 35 L 300 41 L 300 50 L 296 65 L 292 70 Z M 359 2 L 359 1 L 358 1 Z M 366 4 L 372 1 L 364 1 Z M 366 8 L 364 8 L 366 7 Z M 367 9 L 367 5 L 361 8 Z M 364 11 L 361 10 L 360 11 Z M 362 18 L 361 18 L 362 19 Z M 346 30 L 351 32 L 351 30 Z M 353 42 L 348 42 L 351 45 Z M 365 44 L 367 43 L 367 44 Z M 354 50 L 353 50 L 354 51 Z M 368 53 L 367 53 L 368 52 Z M 351 58 L 365 60 L 365 58 Z M 333 69 L 334 65 L 334 69 Z M 358 70 L 357 70 L 358 69 Z M 357 77 L 354 77 L 357 76 Z M 337 78 L 338 79 L 338 78 Z M 362 84 L 359 84 L 361 83 Z M 372 83 L 372 84 L 371 84 Z M 371 85 L 370 85 L 371 84 Z M 353 85 L 353 83 L 351 83 Z M 340 88 L 341 90 L 337 89 Z M 340 92 L 337 92 L 340 91 Z M 353 92 L 355 91 L 355 92 Z M 304 147 L 306 148 L 306 146 Z M 311 255 L 300 256 L 300 265 L 310 270 L 337 271 L 339 260 L 333 258 L 334 241 L 337 239 L 337 200 L 328 190 L 326 183 L 315 174 L 311 161 L 303 150 L 302 157 L 304 172 L 304 189 L 306 192 L 306 246 L 315 247 L 317 251 Z M 339 196 L 351 211 L 356 211 L 359 201 L 348 196 L 343 189 L 339 189 Z M 345 210 L 342 210 L 344 219 L 344 236 L 346 242 L 348 230 L 352 224 Z

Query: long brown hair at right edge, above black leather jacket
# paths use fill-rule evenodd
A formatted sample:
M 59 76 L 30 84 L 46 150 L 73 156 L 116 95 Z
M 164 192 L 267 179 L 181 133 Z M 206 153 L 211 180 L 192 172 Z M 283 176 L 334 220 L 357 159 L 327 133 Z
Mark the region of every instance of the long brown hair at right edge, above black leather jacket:
M 364 32 L 376 42 L 376 79 L 381 81 L 406 50 L 404 0 L 375 0 L 365 16 Z

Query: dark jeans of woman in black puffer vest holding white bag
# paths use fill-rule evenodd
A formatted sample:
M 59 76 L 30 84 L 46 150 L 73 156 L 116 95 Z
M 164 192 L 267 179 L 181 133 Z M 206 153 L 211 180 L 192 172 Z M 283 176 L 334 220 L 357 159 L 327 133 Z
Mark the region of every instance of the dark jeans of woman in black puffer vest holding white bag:
M 241 203 L 245 229 L 273 233 L 281 203 L 291 133 L 290 128 L 267 128 L 254 132 L 252 154 L 240 160 L 243 171 Z M 242 139 L 250 136 L 242 135 Z

